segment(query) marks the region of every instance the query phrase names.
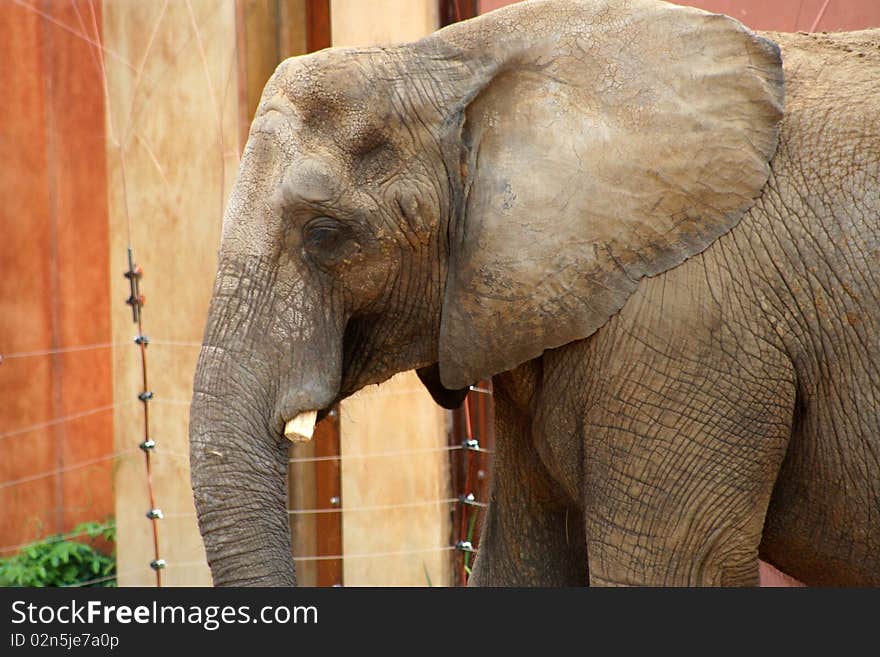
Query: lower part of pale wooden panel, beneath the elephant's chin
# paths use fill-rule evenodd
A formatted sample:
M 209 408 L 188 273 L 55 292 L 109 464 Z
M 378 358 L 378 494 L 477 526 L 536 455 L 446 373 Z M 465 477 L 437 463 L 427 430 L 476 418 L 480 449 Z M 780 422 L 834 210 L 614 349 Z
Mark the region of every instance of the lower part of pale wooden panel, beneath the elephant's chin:
M 445 411 L 405 372 L 345 400 L 340 416 L 345 585 L 449 584 Z

